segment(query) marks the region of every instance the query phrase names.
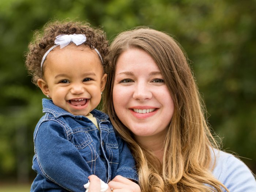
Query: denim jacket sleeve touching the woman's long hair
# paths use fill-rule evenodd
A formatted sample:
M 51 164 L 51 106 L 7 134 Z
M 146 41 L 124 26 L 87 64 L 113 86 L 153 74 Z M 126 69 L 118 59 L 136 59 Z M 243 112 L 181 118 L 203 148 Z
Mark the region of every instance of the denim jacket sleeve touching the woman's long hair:
M 118 135 L 116 135 L 116 139 L 119 149 L 119 163 L 114 177 L 121 175 L 125 178 L 138 182 L 138 174 L 136 172 L 135 161 L 131 151 L 129 150 L 127 144 Z

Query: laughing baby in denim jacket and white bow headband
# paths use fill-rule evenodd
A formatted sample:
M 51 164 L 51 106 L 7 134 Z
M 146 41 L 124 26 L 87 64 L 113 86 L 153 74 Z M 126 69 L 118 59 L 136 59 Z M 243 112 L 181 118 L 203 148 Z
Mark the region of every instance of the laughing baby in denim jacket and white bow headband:
M 31 192 L 82 192 L 92 174 L 106 183 L 117 175 L 138 181 L 127 145 L 95 109 L 108 54 L 105 34 L 88 23 L 53 22 L 35 32 L 26 67 L 48 99 L 34 131 Z

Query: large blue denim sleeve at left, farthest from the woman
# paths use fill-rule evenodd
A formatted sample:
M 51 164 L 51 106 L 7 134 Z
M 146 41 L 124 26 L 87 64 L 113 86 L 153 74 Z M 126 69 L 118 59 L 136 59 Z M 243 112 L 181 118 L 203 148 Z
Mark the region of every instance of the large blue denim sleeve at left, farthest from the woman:
M 93 173 L 67 136 L 65 126 L 58 119 L 41 123 L 34 137 L 40 172 L 67 191 L 84 191 L 83 185 Z

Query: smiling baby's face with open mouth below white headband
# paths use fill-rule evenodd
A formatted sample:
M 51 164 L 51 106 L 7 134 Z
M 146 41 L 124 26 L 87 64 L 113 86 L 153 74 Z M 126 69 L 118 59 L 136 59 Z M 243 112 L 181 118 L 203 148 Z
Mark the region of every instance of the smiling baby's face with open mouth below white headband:
M 48 54 L 44 65 L 46 89 L 55 105 L 83 116 L 97 107 L 106 74 L 95 50 L 84 45 L 70 44 L 62 49 L 57 46 Z

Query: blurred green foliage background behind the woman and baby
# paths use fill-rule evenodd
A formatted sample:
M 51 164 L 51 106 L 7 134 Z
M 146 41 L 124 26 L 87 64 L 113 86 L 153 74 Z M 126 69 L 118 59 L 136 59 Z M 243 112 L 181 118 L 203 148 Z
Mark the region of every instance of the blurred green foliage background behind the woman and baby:
M 223 149 L 256 173 L 255 12 L 255 0 L 1 0 L 0 185 L 30 185 L 35 177 L 33 131 L 43 94 L 27 75 L 24 54 L 33 31 L 56 18 L 87 20 L 110 41 L 139 25 L 172 34 L 191 60 Z

